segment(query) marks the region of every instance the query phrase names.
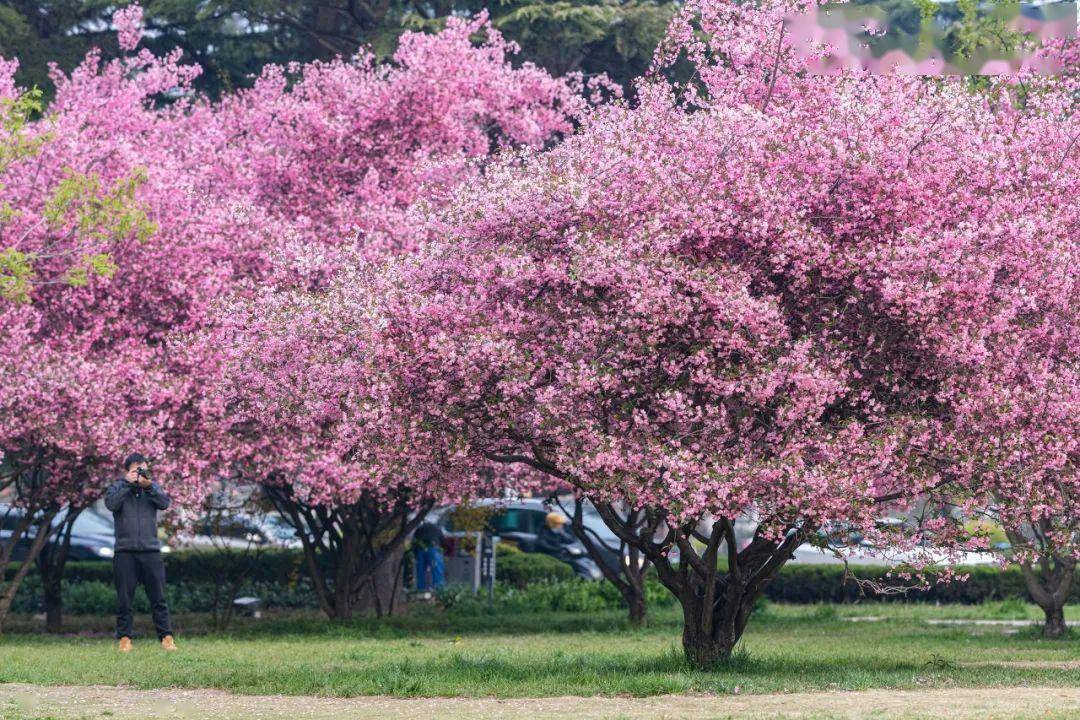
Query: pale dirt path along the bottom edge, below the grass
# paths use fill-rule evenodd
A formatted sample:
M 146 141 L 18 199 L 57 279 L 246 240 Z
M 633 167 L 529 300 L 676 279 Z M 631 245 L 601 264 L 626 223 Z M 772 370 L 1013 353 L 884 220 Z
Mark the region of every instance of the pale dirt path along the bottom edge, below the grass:
M 194 720 L 575 720 L 620 718 L 1078 718 L 1077 688 L 982 688 L 658 697 L 395 698 L 232 695 L 216 690 L 0 684 L 0 718 Z

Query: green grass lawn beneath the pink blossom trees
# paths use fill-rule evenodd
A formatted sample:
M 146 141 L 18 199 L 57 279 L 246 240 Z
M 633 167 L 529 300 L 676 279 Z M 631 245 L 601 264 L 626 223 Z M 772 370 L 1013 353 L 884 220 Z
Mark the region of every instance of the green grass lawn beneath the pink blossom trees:
M 1080 608 L 1068 614 L 1080 621 Z M 845 620 L 852 616 L 883 620 Z M 1038 611 L 1017 603 L 771 604 L 752 620 L 732 662 L 708 673 L 684 664 L 679 617 L 671 610 L 654 613 L 643 629 L 616 612 L 463 615 L 423 609 L 346 624 L 280 617 L 248 621 L 227 635 L 180 633 L 180 651 L 168 655 L 152 639 L 136 640 L 135 652 L 121 656 L 106 637 L 16 631 L 0 638 L 0 682 L 503 697 L 1080 685 L 1080 670 L 1064 666 L 1080 660 L 1076 631 L 1045 640 L 1034 627 L 926 623 L 1002 616 L 1036 620 Z M 1042 666 L 1008 665 L 1015 662 Z

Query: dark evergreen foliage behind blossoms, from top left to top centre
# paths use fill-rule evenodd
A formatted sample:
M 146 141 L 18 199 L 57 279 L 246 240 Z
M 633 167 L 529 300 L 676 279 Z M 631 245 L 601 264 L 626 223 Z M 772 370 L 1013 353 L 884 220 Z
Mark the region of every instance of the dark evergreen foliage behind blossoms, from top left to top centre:
M 109 21 L 124 4 L 124 0 L 8 0 L 0 5 L 0 47 L 5 56 L 21 59 L 22 84 L 51 92 L 50 60 L 70 70 L 94 46 L 106 59 L 120 54 Z M 556 74 L 607 72 L 629 84 L 648 67 L 675 8 L 674 2 L 654 0 L 144 0 L 141 4 L 150 30 L 143 44 L 156 52 L 180 47 L 186 60 L 204 68 L 197 87 L 214 97 L 249 85 L 270 63 L 349 57 L 364 46 L 387 57 L 402 32 L 437 29 L 450 15 L 481 10 L 522 46 L 523 62 Z

